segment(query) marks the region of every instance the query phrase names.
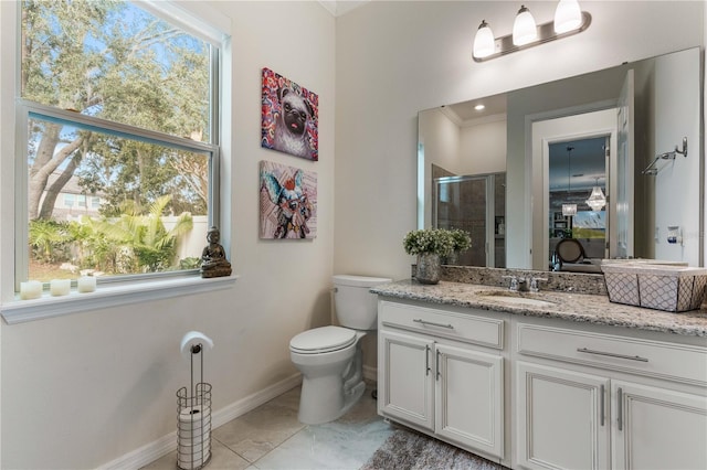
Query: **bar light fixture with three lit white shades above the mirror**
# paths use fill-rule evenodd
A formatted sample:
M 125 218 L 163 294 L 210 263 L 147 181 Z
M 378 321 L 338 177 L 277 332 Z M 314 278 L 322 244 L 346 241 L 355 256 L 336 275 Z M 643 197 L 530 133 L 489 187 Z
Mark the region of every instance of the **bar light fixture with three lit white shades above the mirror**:
M 578 0 L 560 0 L 555 11 L 555 21 L 539 25 L 536 25 L 530 11 L 521 6 L 513 25 L 513 34 L 494 39 L 494 33 L 486 20 L 482 21 L 474 36 L 472 56 L 475 62 L 500 57 L 581 33 L 591 22 L 592 15 L 581 10 Z

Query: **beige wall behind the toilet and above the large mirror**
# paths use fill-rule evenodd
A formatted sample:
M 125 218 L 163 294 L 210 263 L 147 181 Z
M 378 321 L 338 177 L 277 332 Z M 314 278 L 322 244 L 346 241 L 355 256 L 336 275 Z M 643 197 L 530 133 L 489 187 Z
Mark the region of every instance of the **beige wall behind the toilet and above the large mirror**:
M 538 22 L 550 21 L 556 4 L 526 2 Z M 483 19 L 496 35 L 510 33 L 517 8 L 508 2 L 373 1 L 338 19 L 335 270 L 409 277 L 413 258 L 402 237 L 416 226 L 419 110 L 704 42 L 704 2 L 581 4 L 592 14 L 587 31 L 484 63 L 472 61 L 474 33 Z M 507 150 L 524 156 L 525 142 Z M 515 175 L 507 181 L 507 233 L 530 226 L 526 163 L 507 164 Z M 511 244 L 507 255 L 527 258 L 529 249 Z

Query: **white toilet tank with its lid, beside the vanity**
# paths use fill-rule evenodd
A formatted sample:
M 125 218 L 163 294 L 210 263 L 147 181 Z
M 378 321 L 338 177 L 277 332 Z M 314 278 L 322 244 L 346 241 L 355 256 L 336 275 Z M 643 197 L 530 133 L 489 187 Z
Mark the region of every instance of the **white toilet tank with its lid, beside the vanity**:
M 334 276 L 334 306 L 341 327 L 354 330 L 378 329 L 378 296 L 369 289 L 391 282 L 382 277 Z

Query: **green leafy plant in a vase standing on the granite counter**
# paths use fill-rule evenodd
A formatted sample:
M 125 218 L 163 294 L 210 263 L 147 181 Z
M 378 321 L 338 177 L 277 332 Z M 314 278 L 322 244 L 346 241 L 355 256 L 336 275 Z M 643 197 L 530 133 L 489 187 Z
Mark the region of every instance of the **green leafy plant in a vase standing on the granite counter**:
M 415 279 L 421 284 L 437 284 L 441 258 L 454 250 L 454 236 L 444 228 L 422 228 L 408 232 L 402 245 L 408 255 L 418 256 Z

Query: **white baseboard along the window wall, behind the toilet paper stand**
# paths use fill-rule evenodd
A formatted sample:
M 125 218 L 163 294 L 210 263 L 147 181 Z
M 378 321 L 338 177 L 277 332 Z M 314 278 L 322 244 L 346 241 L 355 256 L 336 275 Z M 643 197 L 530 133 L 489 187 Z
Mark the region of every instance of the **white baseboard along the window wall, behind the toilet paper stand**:
M 302 383 L 302 374 L 296 373 L 284 381 L 224 406 L 211 415 L 212 429 L 257 408 L 278 395 Z M 160 437 L 131 452 L 98 467 L 101 470 L 135 470 L 177 450 L 177 430 Z

